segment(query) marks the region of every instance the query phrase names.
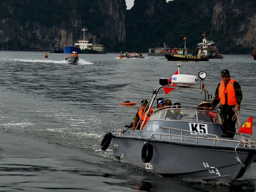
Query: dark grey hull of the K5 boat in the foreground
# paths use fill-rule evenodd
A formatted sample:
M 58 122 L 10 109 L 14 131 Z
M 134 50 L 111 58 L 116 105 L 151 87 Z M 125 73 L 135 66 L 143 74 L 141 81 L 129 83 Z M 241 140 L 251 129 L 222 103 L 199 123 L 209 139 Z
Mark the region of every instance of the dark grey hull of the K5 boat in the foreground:
M 196 146 L 196 144 L 185 145 L 151 140 L 149 142 L 153 146 L 153 156 L 150 162 L 145 163 L 141 158 L 145 141 L 146 139 L 113 136 L 113 154 L 122 162 L 153 170 L 163 176 L 220 181 L 227 185 L 242 177 L 256 158 L 254 153 L 237 152 L 240 160 L 245 162 L 243 168 L 236 158 L 236 152 L 231 148 L 208 148 L 207 145 Z

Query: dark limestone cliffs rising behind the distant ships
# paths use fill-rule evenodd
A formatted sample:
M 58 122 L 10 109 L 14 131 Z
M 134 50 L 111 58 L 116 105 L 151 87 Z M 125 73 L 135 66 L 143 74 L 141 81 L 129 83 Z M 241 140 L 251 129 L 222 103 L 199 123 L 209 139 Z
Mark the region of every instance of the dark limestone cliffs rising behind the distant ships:
M 108 52 L 147 51 L 156 45 L 195 49 L 201 34 L 222 53 L 247 53 L 256 46 L 256 1 L 250 0 L 0 0 L 0 49 L 49 51 L 56 41 L 86 39 Z

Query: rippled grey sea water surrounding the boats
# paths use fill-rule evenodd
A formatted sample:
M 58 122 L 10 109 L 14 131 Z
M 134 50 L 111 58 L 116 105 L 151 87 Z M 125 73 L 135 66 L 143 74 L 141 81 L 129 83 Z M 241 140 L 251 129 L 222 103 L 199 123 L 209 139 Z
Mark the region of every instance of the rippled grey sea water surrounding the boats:
M 169 79 L 177 64 L 180 74 L 197 76 L 204 70 L 213 97 L 221 70 L 228 69 L 242 87 L 239 119 L 245 123 L 256 112 L 252 56 L 193 62 L 80 54 L 78 64 L 71 65 L 67 54 L 47 54 L 0 52 L 0 191 L 255 191 L 255 164 L 225 186 L 164 178 L 115 160 L 112 146 L 100 149 L 105 133 L 133 122 L 141 100 L 150 99 L 159 78 Z M 161 96 L 181 105 L 202 101 L 190 92 Z M 122 106 L 127 100 L 137 105 Z

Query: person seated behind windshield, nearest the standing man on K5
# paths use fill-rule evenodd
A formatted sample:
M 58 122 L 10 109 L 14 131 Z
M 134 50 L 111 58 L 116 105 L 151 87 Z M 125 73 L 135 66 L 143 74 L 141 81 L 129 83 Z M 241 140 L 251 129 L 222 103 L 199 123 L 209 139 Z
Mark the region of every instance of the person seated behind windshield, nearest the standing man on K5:
M 210 114 L 209 108 L 212 107 L 212 103 L 209 102 L 201 102 L 197 106 L 197 117 L 198 120 L 202 120 L 203 122 L 213 123 L 212 114 Z M 196 115 L 195 115 L 196 118 Z

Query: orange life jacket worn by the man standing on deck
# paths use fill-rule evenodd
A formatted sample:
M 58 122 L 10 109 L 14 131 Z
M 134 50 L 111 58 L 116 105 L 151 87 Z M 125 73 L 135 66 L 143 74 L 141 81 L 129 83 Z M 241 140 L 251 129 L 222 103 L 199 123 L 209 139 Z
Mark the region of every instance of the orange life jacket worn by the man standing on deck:
M 225 94 L 227 94 L 228 97 L 228 105 L 237 104 L 236 91 L 234 90 L 234 82 L 237 81 L 231 79 L 228 85 L 225 87 L 224 81 L 221 81 L 220 87 L 218 88 L 218 97 L 220 98 L 221 105 L 225 105 L 226 103 Z

